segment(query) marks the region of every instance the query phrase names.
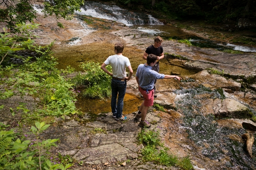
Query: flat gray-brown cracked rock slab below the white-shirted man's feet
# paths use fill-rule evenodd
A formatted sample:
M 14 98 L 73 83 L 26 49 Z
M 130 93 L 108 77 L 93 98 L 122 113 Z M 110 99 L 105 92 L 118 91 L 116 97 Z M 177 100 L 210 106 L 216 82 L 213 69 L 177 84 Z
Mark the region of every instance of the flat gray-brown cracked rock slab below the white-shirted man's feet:
M 49 127 L 42 138 L 60 138 L 60 143 L 52 152 L 70 155 L 86 164 L 124 161 L 138 158 L 142 144 L 137 144 L 141 128 L 134 122 L 135 114 L 127 115 L 127 121 L 116 121 L 112 113 L 99 115 L 96 121 L 80 124 L 75 120 L 65 120 L 57 127 Z M 147 115 L 148 121 L 159 122 L 154 112 Z M 151 128 L 155 128 L 152 125 Z M 97 130 L 101 131 L 97 131 Z

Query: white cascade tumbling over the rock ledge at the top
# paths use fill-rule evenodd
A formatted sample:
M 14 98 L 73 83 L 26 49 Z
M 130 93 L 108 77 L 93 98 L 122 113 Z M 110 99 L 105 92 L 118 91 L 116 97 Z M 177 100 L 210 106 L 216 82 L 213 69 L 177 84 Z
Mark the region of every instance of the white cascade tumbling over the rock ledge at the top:
M 149 14 L 142 14 L 137 12 L 130 12 L 126 9 L 121 9 L 118 6 L 109 6 L 98 2 L 86 1 L 81 8 L 81 12 L 77 14 L 89 15 L 92 17 L 115 20 L 123 23 L 126 26 L 144 25 L 144 24 L 158 24 L 163 25 L 162 22 L 152 17 Z

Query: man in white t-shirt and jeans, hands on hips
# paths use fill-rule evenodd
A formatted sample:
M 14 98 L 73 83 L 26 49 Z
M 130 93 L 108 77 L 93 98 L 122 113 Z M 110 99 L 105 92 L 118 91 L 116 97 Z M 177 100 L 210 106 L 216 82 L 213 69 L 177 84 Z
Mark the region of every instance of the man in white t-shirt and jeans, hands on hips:
M 124 50 L 124 45 L 122 43 L 116 43 L 114 48 L 116 55 L 109 56 L 107 60 L 104 61 L 104 63 L 101 65 L 101 69 L 104 72 L 106 72 L 108 75 L 112 76 L 111 110 L 113 114 L 112 117 L 115 118 L 117 121 L 127 120 L 127 117 L 122 115 L 123 101 L 124 101 L 125 91 L 126 91 L 126 81 L 129 81 L 131 79 L 131 76 L 133 73 L 129 59 L 122 55 L 123 50 Z M 110 73 L 106 69 L 107 65 L 111 65 L 113 73 Z M 126 77 L 126 73 L 125 73 L 126 67 L 129 70 L 128 77 Z M 118 100 L 116 104 L 117 95 L 118 95 Z

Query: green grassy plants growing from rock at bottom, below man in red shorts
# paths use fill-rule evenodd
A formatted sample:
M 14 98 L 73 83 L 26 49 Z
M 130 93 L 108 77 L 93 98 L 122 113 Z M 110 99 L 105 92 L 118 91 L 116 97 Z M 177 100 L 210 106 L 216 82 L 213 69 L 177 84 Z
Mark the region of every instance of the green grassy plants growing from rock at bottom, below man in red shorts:
M 193 166 L 188 157 L 178 158 L 167 153 L 168 148 L 160 140 L 159 130 L 141 130 L 138 133 L 138 141 L 145 147 L 142 155 L 144 161 L 153 161 L 164 166 L 178 166 L 182 170 L 193 170 Z

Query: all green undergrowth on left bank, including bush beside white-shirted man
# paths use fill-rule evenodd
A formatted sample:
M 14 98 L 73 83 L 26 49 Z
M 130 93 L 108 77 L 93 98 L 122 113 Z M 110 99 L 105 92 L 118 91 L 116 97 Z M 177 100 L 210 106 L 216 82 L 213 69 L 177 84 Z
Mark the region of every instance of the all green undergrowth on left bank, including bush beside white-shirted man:
M 11 129 L 13 124 L 12 127 L 0 124 L 0 170 L 64 170 L 70 167 L 73 160 L 64 156 L 54 157 L 49 152 L 50 147 L 57 146 L 55 142 L 58 139 L 39 138 L 39 133 L 50 126 L 45 125 L 45 121 L 54 123 L 54 117 L 81 114 L 75 107 L 78 86 L 86 89 L 83 96 L 90 98 L 101 98 L 111 92 L 111 79 L 104 74 L 98 63 L 83 63 L 83 74 L 79 73 L 75 78 L 65 78 L 74 69 L 68 67 L 63 70 L 55 67 L 57 58 L 52 56 L 53 43 L 42 47 L 31 40 L 33 35 L 30 31 L 37 26 L 23 23 L 17 25 L 21 34 L 0 34 L 0 100 L 21 96 L 23 101 L 22 96 L 30 96 L 36 103 L 33 109 L 25 102 L 20 102 L 17 107 L 6 108 L 4 104 L 0 106 L 2 120 L 7 118 L 18 122 L 15 132 Z M 22 54 L 23 50 L 37 52 L 40 57 L 22 57 L 15 53 L 20 51 Z M 18 58 L 22 64 L 13 64 L 13 58 Z M 24 127 L 31 127 L 31 132 L 24 132 Z M 28 140 L 31 134 L 34 139 Z

